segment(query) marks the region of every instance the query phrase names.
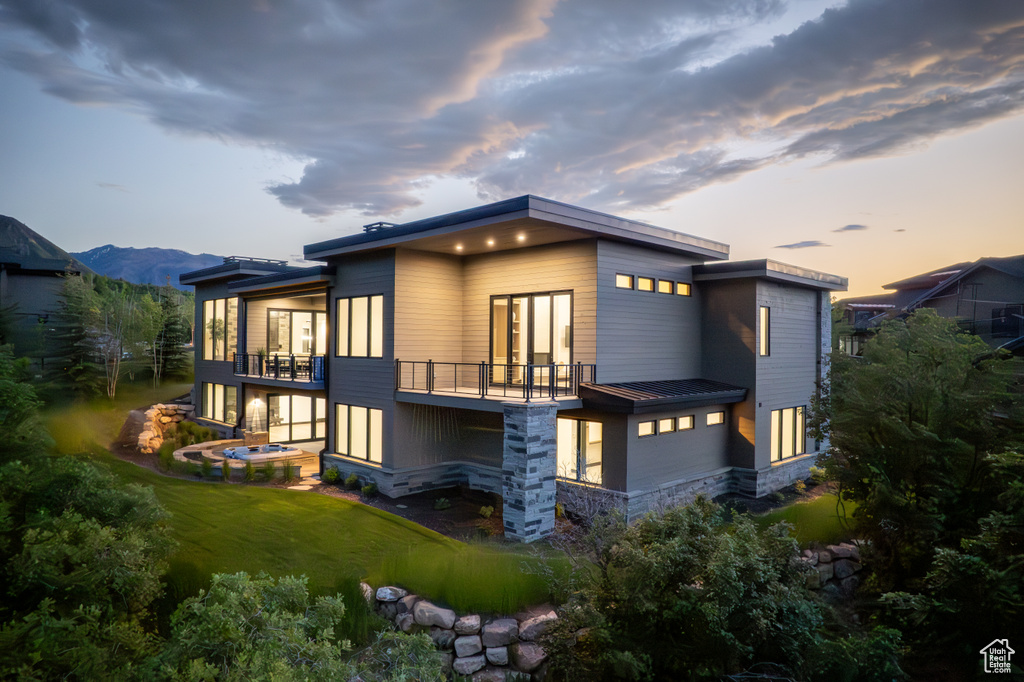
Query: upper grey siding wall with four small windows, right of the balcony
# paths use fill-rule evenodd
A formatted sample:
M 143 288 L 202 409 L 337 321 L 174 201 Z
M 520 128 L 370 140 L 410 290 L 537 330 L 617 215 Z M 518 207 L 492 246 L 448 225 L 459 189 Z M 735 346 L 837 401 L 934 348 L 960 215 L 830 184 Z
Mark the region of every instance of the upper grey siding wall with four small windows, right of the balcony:
M 597 247 L 597 377 L 601 383 L 689 379 L 700 372 L 700 300 L 659 294 L 656 280 L 690 283 L 699 261 L 614 242 Z M 654 292 L 617 289 L 615 274 L 649 276 Z M 635 286 L 635 283 L 634 283 Z

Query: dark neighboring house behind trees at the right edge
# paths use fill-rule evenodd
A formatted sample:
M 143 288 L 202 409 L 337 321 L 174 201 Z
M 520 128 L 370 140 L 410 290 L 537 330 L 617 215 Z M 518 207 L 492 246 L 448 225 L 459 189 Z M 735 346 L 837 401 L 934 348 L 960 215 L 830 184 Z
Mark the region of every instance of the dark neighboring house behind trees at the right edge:
M 839 301 L 854 327 L 843 339 L 852 354 L 884 319 L 932 308 L 956 319 L 992 348 L 1024 354 L 1024 255 L 980 258 L 887 284 L 891 294 Z

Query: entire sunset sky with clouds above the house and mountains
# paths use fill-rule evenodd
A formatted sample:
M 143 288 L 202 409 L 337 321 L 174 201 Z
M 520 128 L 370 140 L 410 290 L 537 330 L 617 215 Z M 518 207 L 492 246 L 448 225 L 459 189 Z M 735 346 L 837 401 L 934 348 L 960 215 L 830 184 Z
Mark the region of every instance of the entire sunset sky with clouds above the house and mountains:
M 304 244 L 534 194 L 850 279 L 1024 253 L 1020 0 L 0 0 L 0 214 Z

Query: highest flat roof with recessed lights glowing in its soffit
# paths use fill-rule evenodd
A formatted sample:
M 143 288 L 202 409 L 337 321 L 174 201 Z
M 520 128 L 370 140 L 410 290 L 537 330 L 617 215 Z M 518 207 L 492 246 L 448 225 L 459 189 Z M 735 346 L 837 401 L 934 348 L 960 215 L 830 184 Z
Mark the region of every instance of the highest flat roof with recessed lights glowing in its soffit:
M 721 242 L 532 195 L 309 244 L 304 254 L 309 260 L 324 260 L 415 242 L 418 249 L 472 255 L 595 237 L 684 252 L 705 260 L 729 257 L 728 245 Z

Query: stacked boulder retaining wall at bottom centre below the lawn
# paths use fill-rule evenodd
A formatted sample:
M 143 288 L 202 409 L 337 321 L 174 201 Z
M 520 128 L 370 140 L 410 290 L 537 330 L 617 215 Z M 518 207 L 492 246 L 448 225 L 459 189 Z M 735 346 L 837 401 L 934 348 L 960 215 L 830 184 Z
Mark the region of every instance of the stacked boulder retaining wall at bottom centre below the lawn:
M 398 587 L 361 587 L 367 602 L 398 630 L 429 634 L 447 671 L 473 682 L 541 682 L 547 676 L 548 654 L 537 639 L 558 620 L 551 607 L 483 619 L 459 615 Z

